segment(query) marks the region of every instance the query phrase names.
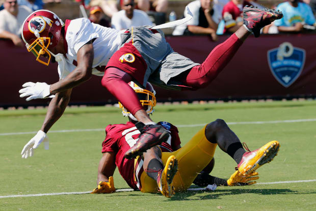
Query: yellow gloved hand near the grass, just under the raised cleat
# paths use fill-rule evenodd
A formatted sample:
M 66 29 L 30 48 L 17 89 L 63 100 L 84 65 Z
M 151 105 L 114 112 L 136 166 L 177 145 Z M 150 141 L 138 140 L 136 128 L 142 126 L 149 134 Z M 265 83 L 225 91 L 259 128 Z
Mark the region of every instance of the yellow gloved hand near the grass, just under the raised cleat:
M 241 174 L 238 170 L 236 170 L 230 178 L 227 180 L 228 186 L 249 186 L 257 183 L 256 179 L 259 178 L 258 172 L 252 172 L 248 175 Z

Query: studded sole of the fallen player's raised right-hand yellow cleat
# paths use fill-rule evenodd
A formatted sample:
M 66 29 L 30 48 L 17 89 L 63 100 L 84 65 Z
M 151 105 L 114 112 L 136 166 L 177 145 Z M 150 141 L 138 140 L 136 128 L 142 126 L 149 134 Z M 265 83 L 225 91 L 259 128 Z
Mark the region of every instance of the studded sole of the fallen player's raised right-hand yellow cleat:
M 247 175 L 254 172 L 260 166 L 266 163 L 270 163 L 271 161 L 273 161 L 273 158 L 277 156 L 279 148 L 280 144 L 278 141 L 269 142 L 268 144 L 266 144 L 266 149 L 264 149 L 264 152 L 262 152 L 260 158 L 258 158 L 252 166 L 248 166 L 247 168 L 243 168 L 241 170 L 239 169 L 239 171 L 241 172 L 241 174 Z

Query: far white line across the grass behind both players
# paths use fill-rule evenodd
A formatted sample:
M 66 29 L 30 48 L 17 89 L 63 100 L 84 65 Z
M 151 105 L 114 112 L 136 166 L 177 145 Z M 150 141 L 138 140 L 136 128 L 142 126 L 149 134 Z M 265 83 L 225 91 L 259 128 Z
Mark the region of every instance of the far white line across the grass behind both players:
M 277 123 L 302 123 L 302 122 L 316 122 L 316 118 L 307 119 L 291 119 L 291 120 L 274 120 L 274 121 L 257 121 L 257 122 L 231 122 L 227 125 L 250 125 L 250 124 L 277 124 Z M 195 125 L 177 125 L 178 128 L 191 128 L 204 126 L 207 123 L 195 124 Z M 91 131 L 105 131 L 105 128 L 98 129 L 75 129 L 75 130 L 55 130 L 49 131 L 49 133 L 69 133 L 69 132 L 91 132 Z M 24 135 L 24 134 L 36 134 L 37 131 L 31 132 L 16 132 L 16 133 L 0 133 L 0 136 L 10 136 L 10 135 Z

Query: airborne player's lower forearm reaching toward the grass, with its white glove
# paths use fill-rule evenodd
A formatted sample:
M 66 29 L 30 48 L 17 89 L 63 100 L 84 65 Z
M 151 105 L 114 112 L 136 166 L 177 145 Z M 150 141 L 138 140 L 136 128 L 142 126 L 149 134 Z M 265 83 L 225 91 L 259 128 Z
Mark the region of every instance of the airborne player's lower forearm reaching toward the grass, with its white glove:
M 65 92 L 57 93 L 55 98 L 50 101 L 41 130 L 39 130 L 37 134 L 25 144 L 21 152 L 22 158 L 33 156 L 33 149 L 37 148 L 41 142 L 44 142 L 45 149 L 48 149 L 48 136 L 46 133 L 64 113 L 69 103 L 70 95 L 71 89 L 68 89 Z

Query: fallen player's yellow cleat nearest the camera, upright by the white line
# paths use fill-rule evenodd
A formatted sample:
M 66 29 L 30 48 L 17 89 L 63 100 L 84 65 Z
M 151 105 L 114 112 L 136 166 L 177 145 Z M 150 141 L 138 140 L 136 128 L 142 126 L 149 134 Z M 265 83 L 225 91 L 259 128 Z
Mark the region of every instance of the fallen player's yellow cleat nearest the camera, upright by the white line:
M 158 173 L 157 184 L 160 192 L 170 198 L 174 195 L 172 180 L 178 171 L 178 160 L 172 155 L 168 158 L 165 168 Z

